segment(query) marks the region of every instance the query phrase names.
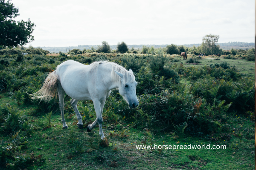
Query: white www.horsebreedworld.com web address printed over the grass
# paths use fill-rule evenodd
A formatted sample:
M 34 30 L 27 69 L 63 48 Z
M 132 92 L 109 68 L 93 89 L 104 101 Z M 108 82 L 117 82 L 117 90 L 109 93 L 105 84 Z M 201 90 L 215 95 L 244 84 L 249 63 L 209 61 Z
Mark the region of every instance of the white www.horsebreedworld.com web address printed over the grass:
M 186 144 L 186 145 L 156 145 L 154 144 L 154 147 L 152 145 L 136 145 L 136 149 L 226 149 L 226 145 L 211 145 L 210 144 L 199 144 L 199 145 L 192 145 L 192 144 Z

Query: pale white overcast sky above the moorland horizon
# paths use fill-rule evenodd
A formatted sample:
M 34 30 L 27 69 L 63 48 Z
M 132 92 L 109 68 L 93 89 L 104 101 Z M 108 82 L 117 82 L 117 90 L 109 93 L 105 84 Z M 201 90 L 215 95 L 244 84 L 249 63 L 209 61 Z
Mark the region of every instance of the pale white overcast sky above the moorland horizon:
M 35 23 L 32 46 L 254 42 L 254 0 L 12 0 Z M 29 43 L 30 44 L 30 43 Z M 28 45 L 29 45 L 28 44 Z

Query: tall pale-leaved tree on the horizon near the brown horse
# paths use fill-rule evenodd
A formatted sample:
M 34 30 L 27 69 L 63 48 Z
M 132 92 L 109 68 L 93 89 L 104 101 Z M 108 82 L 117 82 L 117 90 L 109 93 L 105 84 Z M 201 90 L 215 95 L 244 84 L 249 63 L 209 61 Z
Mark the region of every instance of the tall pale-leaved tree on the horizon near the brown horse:
M 219 35 L 205 35 L 201 44 L 201 52 L 206 54 L 216 54 L 220 51 L 220 45 L 218 45 Z

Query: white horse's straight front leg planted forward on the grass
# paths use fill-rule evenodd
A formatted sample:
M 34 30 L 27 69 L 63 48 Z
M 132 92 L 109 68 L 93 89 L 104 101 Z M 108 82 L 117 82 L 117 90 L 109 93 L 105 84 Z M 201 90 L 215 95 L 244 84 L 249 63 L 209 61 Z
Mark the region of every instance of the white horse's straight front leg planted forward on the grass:
M 105 105 L 105 101 L 106 101 L 106 99 L 103 100 L 102 102 L 93 101 L 93 105 L 94 105 L 96 116 L 97 116 L 97 122 L 99 124 L 99 136 L 101 137 L 101 139 L 105 138 L 103 130 L 102 130 L 102 122 L 103 122 L 102 111 L 103 111 L 103 107 Z

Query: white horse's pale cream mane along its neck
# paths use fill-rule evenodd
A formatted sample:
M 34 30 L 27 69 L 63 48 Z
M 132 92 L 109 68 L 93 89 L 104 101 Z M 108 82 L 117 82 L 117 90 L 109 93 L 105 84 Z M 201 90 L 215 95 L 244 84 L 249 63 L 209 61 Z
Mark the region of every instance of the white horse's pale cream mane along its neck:
M 135 81 L 135 77 L 134 77 L 134 75 L 130 71 L 127 71 L 121 65 L 118 65 L 118 64 L 116 64 L 114 62 L 109 62 L 108 60 L 96 61 L 96 62 L 91 63 L 90 64 L 90 66 L 91 66 L 90 71 L 91 72 L 95 71 L 95 73 L 96 73 L 98 71 L 99 64 L 106 64 L 106 65 L 109 65 L 109 66 L 112 67 L 111 80 L 113 82 L 119 82 L 119 80 L 120 80 L 120 77 L 115 73 L 115 71 L 118 71 L 119 73 L 123 74 L 123 81 L 124 81 L 124 83 Z

